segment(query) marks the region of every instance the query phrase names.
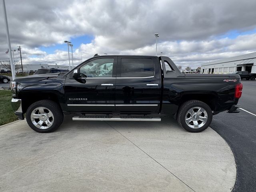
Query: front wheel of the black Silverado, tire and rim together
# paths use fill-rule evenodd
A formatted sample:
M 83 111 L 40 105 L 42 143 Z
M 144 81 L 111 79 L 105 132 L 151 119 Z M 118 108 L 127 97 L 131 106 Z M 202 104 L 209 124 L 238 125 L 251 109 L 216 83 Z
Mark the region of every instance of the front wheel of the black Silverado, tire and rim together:
M 40 100 L 30 105 L 26 112 L 26 120 L 34 131 L 49 133 L 62 124 L 63 112 L 56 102 Z

